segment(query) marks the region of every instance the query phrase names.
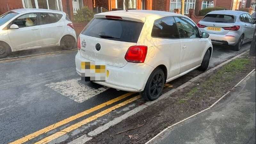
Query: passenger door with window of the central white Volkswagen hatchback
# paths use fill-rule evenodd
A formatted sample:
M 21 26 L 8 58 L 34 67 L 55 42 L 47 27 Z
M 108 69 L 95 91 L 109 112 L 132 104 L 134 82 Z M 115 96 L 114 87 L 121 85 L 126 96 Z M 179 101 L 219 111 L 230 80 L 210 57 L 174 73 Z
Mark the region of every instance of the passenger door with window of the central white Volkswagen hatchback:
M 201 64 L 205 39 L 200 38 L 196 25 L 184 17 L 175 17 L 180 33 L 180 73 Z

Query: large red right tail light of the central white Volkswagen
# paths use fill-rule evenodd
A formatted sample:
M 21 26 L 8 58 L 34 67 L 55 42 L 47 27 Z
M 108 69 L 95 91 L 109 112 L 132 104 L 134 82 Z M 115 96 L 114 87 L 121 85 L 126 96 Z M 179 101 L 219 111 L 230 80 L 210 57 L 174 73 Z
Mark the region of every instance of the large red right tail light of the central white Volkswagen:
M 148 52 L 148 47 L 143 45 L 131 46 L 125 54 L 125 60 L 134 63 L 143 63 Z

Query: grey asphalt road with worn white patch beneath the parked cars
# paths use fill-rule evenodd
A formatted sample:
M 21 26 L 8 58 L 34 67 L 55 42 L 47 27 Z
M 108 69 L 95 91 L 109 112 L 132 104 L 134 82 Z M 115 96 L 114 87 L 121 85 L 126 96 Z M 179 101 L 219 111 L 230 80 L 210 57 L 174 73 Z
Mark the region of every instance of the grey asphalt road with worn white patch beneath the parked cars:
M 238 53 L 248 50 L 249 47 L 250 44 L 244 44 L 239 52 L 235 52 L 230 48 L 214 46 L 210 67 L 214 67 Z M 75 55 L 76 51 L 73 51 L 0 61 L 0 143 L 18 140 L 51 124 L 127 93 L 94 83 L 82 82 L 76 74 Z M 178 87 L 191 77 L 199 74 L 199 71 L 194 70 L 170 84 L 173 85 L 173 88 Z M 165 88 L 164 92 L 169 89 L 171 88 Z M 136 94 L 132 96 L 134 95 Z M 127 99 L 128 97 L 110 106 Z M 135 100 L 51 142 L 61 142 L 69 137 L 77 136 L 82 131 L 89 132 L 143 102 L 142 99 Z M 110 106 L 74 119 L 26 142 L 37 142 L 63 128 L 94 116 L 97 112 Z

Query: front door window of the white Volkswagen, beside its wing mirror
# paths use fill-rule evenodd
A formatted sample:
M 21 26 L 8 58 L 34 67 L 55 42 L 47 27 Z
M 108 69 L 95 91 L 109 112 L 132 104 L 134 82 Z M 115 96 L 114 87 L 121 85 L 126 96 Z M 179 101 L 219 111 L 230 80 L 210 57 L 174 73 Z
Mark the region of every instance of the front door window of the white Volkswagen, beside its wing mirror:
M 182 17 L 175 17 L 177 27 L 179 29 L 180 38 L 196 38 L 199 37 L 198 29 L 190 20 Z

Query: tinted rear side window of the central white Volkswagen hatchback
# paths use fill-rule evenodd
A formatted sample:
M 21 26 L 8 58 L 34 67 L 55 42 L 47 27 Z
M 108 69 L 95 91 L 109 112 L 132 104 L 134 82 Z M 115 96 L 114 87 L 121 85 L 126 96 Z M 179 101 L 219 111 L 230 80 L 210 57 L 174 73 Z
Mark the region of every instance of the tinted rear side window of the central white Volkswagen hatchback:
M 155 20 L 151 36 L 162 38 L 179 38 L 178 28 L 173 17 Z

